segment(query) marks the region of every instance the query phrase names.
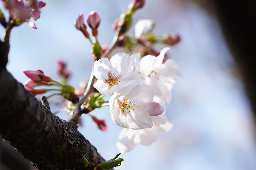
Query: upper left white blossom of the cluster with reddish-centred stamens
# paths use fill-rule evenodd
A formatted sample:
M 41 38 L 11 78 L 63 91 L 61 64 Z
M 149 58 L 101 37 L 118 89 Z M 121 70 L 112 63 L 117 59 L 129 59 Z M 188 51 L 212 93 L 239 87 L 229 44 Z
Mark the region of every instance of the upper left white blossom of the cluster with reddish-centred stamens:
M 129 66 L 130 57 L 124 52 L 115 54 L 110 61 L 107 58 L 95 61 L 94 76 L 98 80 L 94 88 L 101 94 L 110 95 L 131 80 L 140 80 L 139 74 L 128 72 Z

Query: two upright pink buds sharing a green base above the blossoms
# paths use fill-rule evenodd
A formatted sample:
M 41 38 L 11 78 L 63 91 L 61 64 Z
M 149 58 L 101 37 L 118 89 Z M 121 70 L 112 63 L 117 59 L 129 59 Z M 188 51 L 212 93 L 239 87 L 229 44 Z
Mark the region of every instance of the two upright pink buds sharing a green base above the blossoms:
M 92 55 L 95 60 L 97 58 L 100 58 L 100 56 L 103 54 L 103 50 L 98 42 L 97 36 L 98 36 L 98 27 L 100 26 L 100 16 L 97 12 L 92 11 L 89 13 L 87 17 L 87 24 L 92 29 L 92 36 L 95 37 L 95 41 L 92 42 L 90 39 L 90 34 L 86 30 L 86 25 L 84 24 L 84 15 L 81 12 L 76 19 L 75 27 L 76 29 L 80 30 L 84 36 L 91 42 L 92 44 Z

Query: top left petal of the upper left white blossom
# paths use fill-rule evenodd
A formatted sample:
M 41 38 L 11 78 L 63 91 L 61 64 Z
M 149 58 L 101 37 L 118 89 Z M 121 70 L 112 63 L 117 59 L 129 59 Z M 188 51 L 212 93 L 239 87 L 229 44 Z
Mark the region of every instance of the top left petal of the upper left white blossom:
M 107 58 L 100 58 L 100 60 L 94 62 L 93 70 L 94 76 L 98 80 L 107 80 L 108 72 L 110 71 L 110 62 Z

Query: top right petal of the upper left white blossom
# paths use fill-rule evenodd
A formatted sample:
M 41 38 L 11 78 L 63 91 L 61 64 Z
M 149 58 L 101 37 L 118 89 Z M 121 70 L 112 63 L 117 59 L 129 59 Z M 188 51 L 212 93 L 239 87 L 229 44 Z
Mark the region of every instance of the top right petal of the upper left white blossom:
M 110 59 L 110 64 L 112 66 L 111 72 L 115 74 L 120 73 L 121 76 L 126 74 L 130 66 L 130 58 L 129 55 L 124 52 L 119 52 L 112 56 Z

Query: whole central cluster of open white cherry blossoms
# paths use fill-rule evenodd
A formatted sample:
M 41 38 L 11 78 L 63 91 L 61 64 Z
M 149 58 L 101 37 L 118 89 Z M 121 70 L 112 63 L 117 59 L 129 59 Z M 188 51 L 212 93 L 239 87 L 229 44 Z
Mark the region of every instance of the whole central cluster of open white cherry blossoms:
M 176 83 L 178 65 L 168 59 L 169 48 L 156 56 L 141 58 L 140 53 L 129 56 L 117 53 L 110 60 L 94 62 L 94 84 L 101 94 L 110 97 L 110 113 L 115 124 L 124 128 L 117 146 L 121 152 L 136 144 L 149 145 L 158 131 L 168 131 L 172 123 L 164 114 L 165 102 L 170 102 L 172 86 Z

